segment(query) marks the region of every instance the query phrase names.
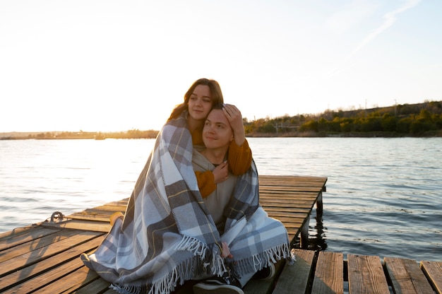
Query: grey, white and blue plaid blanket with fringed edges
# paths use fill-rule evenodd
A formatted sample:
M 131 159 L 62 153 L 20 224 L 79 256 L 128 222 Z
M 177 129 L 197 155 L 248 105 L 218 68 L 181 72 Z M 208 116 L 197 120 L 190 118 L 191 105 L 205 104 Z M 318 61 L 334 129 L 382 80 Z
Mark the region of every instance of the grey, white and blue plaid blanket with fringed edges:
M 119 293 L 169 293 L 196 276 L 221 275 L 221 242 L 229 245 L 240 275 L 290 257 L 285 227 L 259 205 L 254 163 L 239 177 L 225 233 L 218 233 L 198 190 L 186 115 L 158 134 L 124 220 L 114 223 L 94 254 L 81 256 Z

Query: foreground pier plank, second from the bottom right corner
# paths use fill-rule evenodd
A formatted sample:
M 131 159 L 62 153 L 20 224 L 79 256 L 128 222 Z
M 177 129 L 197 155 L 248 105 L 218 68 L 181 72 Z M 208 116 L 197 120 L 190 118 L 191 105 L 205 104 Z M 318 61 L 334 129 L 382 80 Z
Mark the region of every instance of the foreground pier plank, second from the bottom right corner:
M 383 261 L 395 294 L 426 294 L 433 291 L 415 260 L 384 257 Z

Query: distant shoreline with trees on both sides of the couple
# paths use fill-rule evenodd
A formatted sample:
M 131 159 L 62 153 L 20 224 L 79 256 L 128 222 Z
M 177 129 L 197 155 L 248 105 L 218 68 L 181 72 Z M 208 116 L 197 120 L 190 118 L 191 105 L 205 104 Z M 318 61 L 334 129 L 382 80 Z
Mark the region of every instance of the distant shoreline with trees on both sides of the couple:
M 326 110 L 249 121 L 246 136 L 442 136 L 442 102 L 393 105 L 364 110 Z M 18 133 L 0 139 L 154 139 L 156 130 L 119 132 L 57 131 Z

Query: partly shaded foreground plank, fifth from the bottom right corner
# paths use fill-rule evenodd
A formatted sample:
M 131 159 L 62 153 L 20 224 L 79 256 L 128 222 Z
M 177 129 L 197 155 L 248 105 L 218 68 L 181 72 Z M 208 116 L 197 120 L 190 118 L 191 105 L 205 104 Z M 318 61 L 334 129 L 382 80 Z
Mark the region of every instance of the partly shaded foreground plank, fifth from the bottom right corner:
M 280 277 L 277 279 L 273 294 L 304 294 L 313 266 L 315 252 L 311 250 L 292 249 L 297 261 L 285 264 Z

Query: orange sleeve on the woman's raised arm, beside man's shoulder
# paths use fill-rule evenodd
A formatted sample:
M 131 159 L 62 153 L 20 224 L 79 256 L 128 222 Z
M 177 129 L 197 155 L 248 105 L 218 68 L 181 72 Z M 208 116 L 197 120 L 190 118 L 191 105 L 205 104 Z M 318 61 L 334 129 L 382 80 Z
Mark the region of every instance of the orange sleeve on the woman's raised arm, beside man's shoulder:
M 249 170 L 251 166 L 251 149 L 247 139 L 238 146 L 235 141 L 229 145 L 229 155 L 227 157 L 229 169 L 234 175 L 242 175 Z

